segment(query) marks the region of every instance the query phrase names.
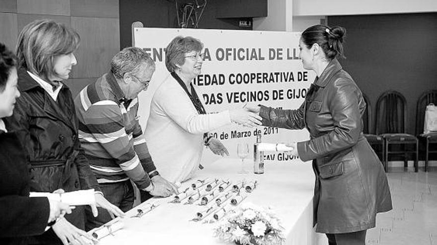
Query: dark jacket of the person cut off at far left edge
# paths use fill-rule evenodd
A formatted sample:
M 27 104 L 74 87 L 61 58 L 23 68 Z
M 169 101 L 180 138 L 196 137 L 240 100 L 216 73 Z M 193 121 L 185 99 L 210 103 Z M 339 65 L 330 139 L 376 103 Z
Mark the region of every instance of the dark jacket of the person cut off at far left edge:
M 13 133 L 0 131 L 0 244 L 26 244 L 44 232 L 50 206 L 46 197 L 29 197 L 29 170 Z

